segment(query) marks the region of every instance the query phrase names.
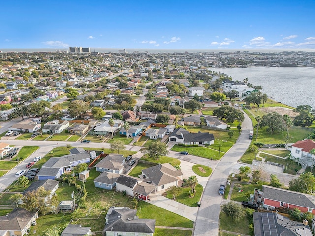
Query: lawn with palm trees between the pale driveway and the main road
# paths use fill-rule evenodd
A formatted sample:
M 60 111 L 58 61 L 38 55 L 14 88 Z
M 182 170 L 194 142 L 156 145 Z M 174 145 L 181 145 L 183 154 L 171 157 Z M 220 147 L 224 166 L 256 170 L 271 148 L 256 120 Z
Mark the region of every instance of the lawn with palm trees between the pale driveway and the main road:
M 191 198 L 189 197 L 189 191 L 191 190 L 191 188 L 189 186 L 185 186 L 185 187 L 180 187 L 180 192 L 179 194 L 176 196 L 175 201 L 182 203 L 184 205 L 187 205 L 189 207 L 198 207 L 197 202 L 200 201 L 201 198 L 201 194 L 203 192 L 203 187 L 200 184 L 197 184 L 195 190 L 195 195 Z M 166 197 L 169 199 L 173 199 L 174 196 L 171 193 L 171 191 L 166 191 L 167 195 Z

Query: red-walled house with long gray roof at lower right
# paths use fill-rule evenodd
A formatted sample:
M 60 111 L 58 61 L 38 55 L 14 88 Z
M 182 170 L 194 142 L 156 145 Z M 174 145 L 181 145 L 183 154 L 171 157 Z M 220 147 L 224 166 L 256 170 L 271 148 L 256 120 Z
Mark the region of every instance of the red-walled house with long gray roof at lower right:
M 306 193 L 262 185 L 262 190 L 255 189 L 254 201 L 262 203 L 265 208 L 298 208 L 302 213 L 315 214 L 315 196 Z

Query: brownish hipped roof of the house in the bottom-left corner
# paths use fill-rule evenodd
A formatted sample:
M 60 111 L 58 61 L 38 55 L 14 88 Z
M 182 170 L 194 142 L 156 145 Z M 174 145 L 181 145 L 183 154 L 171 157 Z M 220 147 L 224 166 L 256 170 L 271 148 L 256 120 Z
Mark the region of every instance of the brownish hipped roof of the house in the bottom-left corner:
M 0 230 L 21 231 L 28 225 L 35 214 L 36 212 L 15 208 L 8 215 L 0 216 Z

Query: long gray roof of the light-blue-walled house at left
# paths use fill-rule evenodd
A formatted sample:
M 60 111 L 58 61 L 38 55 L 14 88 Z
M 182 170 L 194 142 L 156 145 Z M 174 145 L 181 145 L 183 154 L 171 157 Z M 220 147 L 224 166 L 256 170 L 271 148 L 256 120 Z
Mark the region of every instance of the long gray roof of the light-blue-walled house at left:
M 90 159 L 88 152 L 78 153 L 78 154 L 70 154 L 61 157 L 53 157 L 50 158 L 46 163 L 44 163 L 43 167 L 65 167 L 70 166 L 72 162 Z

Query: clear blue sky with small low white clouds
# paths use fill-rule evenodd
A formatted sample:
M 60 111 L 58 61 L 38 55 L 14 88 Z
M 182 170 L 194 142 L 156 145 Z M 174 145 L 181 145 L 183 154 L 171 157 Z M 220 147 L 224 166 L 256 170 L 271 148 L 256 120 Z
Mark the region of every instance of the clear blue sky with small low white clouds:
M 14 0 L 0 48 L 315 49 L 315 0 Z

